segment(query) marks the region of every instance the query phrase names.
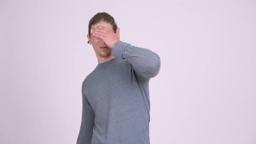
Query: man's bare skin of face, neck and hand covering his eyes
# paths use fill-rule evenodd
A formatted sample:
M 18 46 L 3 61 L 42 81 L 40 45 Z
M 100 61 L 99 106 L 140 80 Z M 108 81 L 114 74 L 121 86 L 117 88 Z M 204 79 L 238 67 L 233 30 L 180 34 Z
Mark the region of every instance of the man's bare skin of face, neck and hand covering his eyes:
M 89 40 L 89 44 L 92 45 L 95 51 L 98 63 L 114 59 L 115 56 L 112 55 L 112 49 L 115 46 L 115 43 L 120 41 L 120 28 L 116 30 L 116 33 L 114 33 L 112 25 L 103 21 L 92 25 L 91 28 L 91 36 L 87 34 L 87 38 Z M 102 46 L 108 48 L 106 50 L 100 49 Z

